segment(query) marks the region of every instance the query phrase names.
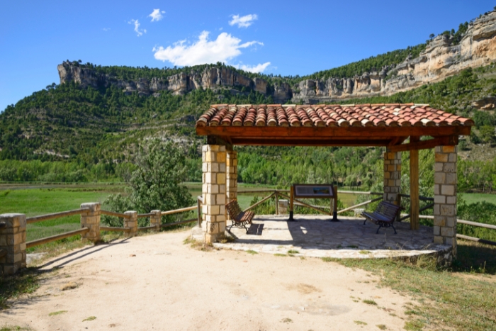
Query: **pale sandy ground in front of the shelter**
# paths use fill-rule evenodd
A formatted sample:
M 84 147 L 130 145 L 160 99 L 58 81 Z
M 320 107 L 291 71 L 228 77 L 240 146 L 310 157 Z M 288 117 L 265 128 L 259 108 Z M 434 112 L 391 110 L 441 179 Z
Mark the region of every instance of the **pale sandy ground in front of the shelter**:
M 183 245 L 189 232 L 86 247 L 52 259 L 42 286 L 0 312 L 33 330 L 403 330 L 410 298 L 321 259 Z M 61 291 L 74 282 L 77 288 Z M 378 305 L 363 303 L 364 299 Z M 67 310 L 60 315 L 50 313 Z M 90 316 L 94 320 L 86 320 Z M 367 325 L 357 324 L 366 322 Z

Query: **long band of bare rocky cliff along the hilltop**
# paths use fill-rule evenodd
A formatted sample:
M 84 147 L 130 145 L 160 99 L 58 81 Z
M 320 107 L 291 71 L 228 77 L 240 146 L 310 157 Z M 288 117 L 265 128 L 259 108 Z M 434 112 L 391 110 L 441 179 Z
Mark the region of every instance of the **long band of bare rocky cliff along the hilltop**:
M 276 82 L 269 86 L 261 78 L 251 79 L 228 67 L 208 67 L 203 72 L 176 74 L 167 78 L 137 79 L 123 81 L 106 74 L 96 74 L 94 69 L 77 67 L 70 62 L 59 64 L 60 82 L 74 81 L 83 86 L 116 84 L 123 91 L 147 96 L 159 91 L 185 94 L 200 86 L 203 89 L 228 87 L 253 89 L 271 94 L 276 102 L 288 100 L 305 103 L 333 102 L 366 96 L 390 95 L 406 91 L 460 72 L 468 67 L 480 67 L 496 59 L 496 11 L 477 18 L 469 24 L 466 34 L 457 45 L 449 36 L 434 38 L 419 57 L 407 58 L 398 65 L 385 66 L 371 72 L 363 72 L 353 78 L 306 79 L 290 86 Z

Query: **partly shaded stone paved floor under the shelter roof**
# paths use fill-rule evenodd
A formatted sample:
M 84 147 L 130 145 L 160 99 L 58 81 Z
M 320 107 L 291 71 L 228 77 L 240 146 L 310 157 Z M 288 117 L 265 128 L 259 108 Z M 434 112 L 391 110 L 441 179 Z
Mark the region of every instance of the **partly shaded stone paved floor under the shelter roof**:
M 320 215 L 259 215 L 254 218 L 248 234 L 244 228 L 232 228 L 237 239 L 231 243 L 215 243 L 215 247 L 235 250 L 254 250 L 270 254 L 298 251 L 302 257 L 383 258 L 413 257 L 419 254 L 450 252 L 446 245 L 433 243 L 433 230 L 420 225 L 410 230 L 410 223 L 395 223 L 392 228 L 381 228 L 363 218 L 339 217 L 339 222 Z M 230 222 L 228 222 L 230 225 Z

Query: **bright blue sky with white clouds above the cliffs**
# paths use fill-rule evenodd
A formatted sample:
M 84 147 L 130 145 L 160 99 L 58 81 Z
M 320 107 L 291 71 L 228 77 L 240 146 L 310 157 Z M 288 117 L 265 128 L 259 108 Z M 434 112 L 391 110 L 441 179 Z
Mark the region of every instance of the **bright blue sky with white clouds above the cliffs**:
M 59 83 L 57 64 L 225 62 L 311 74 L 423 43 L 494 1 L 1 1 L 0 111 Z

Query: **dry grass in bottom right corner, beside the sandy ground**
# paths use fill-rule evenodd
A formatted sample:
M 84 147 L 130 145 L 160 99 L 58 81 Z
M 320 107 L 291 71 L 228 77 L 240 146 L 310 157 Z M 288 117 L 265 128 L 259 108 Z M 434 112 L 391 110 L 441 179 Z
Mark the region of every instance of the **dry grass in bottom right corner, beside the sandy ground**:
M 453 330 L 496 330 L 496 274 L 494 263 L 480 269 L 478 257 L 484 252 L 487 261 L 496 260 L 496 247 L 458 241 L 458 259 L 450 268 L 436 266 L 433 258 L 417 262 L 393 259 L 322 259 L 346 267 L 360 268 L 381 276 L 381 286 L 406 293 L 418 303 L 405 322 L 406 330 L 451 328 Z M 468 271 L 468 272 L 467 272 Z M 489 279 L 491 277 L 492 279 Z M 425 304 L 429 301 L 429 304 Z

